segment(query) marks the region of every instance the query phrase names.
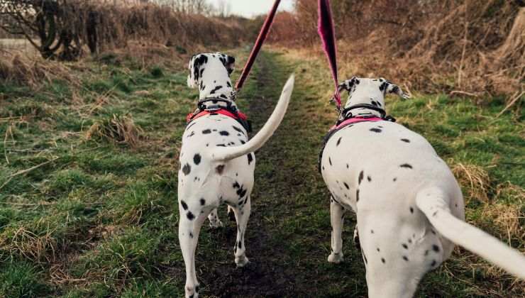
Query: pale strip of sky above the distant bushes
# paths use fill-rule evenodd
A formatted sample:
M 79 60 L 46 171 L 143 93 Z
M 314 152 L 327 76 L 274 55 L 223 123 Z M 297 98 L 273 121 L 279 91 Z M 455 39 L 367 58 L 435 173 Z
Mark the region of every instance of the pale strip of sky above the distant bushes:
M 274 4 L 274 0 L 209 0 L 215 5 L 219 4 L 220 1 L 225 1 L 231 7 L 231 13 L 248 18 L 267 13 Z M 281 0 L 279 8 L 280 10 L 291 11 L 294 2 L 294 0 Z

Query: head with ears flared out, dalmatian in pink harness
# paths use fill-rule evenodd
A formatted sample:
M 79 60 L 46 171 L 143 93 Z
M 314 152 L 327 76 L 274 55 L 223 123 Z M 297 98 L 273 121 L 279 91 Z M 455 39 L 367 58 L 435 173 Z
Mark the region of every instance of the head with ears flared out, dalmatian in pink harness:
M 409 94 L 403 92 L 399 86 L 392 84 L 386 79 L 369 79 L 353 77 L 339 84 L 339 92 L 348 91 L 346 107 L 355 104 L 372 104 L 385 109 L 385 96 L 397 94 L 402 99 L 410 98 Z

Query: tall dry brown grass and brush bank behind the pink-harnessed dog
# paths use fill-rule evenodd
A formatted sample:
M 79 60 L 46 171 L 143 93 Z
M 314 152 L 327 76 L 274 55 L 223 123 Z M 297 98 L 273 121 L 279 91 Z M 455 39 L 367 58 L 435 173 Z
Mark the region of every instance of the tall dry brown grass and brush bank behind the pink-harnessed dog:
M 501 0 L 334 0 L 343 76 L 381 76 L 420 92 L 484 102 L 525 90 L 525 8 Z M 316 1 L 277 16 L 271 41 L 319 55 Z M 513 96 L 514 95 L 514 96 Z

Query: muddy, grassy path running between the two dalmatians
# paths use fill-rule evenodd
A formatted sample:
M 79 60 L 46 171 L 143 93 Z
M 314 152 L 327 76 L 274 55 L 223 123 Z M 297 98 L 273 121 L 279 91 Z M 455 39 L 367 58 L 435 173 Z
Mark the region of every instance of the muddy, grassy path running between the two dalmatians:
M 254 131 L 258 131 L 271 114 L 287 77 L 301 71 L 296 68 L 297 63 L 287 62 L 280 54 L 262 53 L 241 94 L 249 103 L 246 111 Z M 351 273 L 348 270 L 354 275 L 362 273 L 359 263 L 334 267 L 326 262 L 331 231 L 328 192 L 316 170 L 318 148 L 326 125 L 316 121 L 315 114 L 308 114 L 325 108 L 315 99 L 308 100 L 307 86 L 298 75 L 287 116 L 275 135 L 256 153 L 253 211 L 246 236 L 251 263 L 237 269 L 229 253 L 226 260 L 199 260 L 201 264 L 216 262 L 208 263 L 210 267 L 201 267 L 206 296 L 329 297 L 351 292 L 353 297 L 359 297 L 364 294 L 363 285 L 356 289 L 354 282 L 347 282 Z M 244 105 L 241 103 L 241 106 Z M 348 221 L 350 227 L 351 221 L 353 219 Z M 346 239 L 351 239 L 350 227 L 345 230 Z M 211 234 L 216 237 L 216 244 L 221 245 L 220 249 L 230 252 L 235 231 L 235 223 L 230 222 L 222 231 Z M 352 255 L 348 258 L 359 260 Z M 350 270 L 350 267 L 356 268 Z M 339 280 L 338 275 L 346 278 Z

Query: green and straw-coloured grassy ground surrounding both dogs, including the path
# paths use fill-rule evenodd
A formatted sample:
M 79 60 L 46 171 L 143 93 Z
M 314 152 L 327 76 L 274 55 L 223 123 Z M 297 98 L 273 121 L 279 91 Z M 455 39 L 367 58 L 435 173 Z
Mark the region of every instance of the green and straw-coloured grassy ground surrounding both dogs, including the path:
M 238 61 L 244 50 L 234 50 Z M 196 93 L 184 65 L 140 69 L 107 57 L 38 92 L 0 86 L 0 297 L 180 297 L 177 157 Z M 88 67 L 86 67 L 88 68 Z M 240 106 L 258 129 L 291 72 L 289 113 L 258 153 L 248 267 L 236 269 L 236 227 L 205 227 L 197 249 L 204 297 L 365 297 L 363 261 L 343 230 L 346 262 L 330 252 L 328 192 L 316 170 L 336 117 L 324 60 L 262 53 Z M 389 78 L 395 79 L 395 78 Z M 467 220 L 525 250 L 523 114 L 501 99 L 417 95 L 389 113 L 429 139 L 462 184 Z M 426 275 L 418 297 L 524 297 L 514 280 L 462 248 Z

